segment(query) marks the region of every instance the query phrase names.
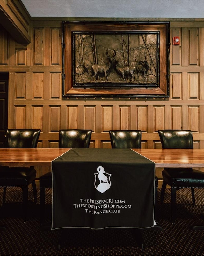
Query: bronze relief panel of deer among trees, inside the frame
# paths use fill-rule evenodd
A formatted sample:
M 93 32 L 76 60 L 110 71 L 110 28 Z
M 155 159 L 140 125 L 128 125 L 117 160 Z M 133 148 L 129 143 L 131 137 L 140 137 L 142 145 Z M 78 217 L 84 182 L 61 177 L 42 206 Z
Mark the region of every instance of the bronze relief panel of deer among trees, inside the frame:
M 76 83 L 156 83 L 155 35 L 77 35 L 75 49 Z

